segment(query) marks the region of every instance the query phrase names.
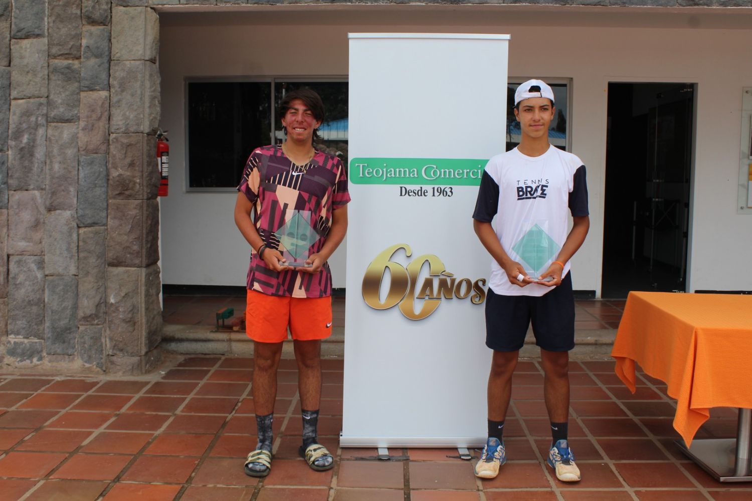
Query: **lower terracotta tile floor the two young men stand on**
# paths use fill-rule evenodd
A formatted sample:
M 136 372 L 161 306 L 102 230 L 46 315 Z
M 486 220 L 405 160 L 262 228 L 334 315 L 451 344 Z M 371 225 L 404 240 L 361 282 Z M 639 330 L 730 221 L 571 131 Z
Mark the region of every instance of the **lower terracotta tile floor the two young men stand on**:
M 300 405 L 280 383 L 274 463 L 263 480 L 243 473 L 256 443 L 251 360 L 178 358 L 140 378 L 0 375 L 0 499 L 253 499 L 255 501 L 493 501 L 494 499 L 752 499 L 752 484 L 720 484 L 673 441 L 674 402 L 640 373 L 632 396 L 614 364 L 573 362 L 570 436 L 583 480 L 556 481 L 544 464 L 548 425 L 537 362 L 520 363 L 508 417 L 508 463 L 481 481 L 456 449 L 338 447 L 342 360 L 325 360 L 320 439 L 335 468 L 297 457 Z M 296 381 L 282 360 L 280 381 Z M 532 396 L 532 397 L 531 397 Z M 717 409 L 698 436 L 728 436 L 735 411 Z

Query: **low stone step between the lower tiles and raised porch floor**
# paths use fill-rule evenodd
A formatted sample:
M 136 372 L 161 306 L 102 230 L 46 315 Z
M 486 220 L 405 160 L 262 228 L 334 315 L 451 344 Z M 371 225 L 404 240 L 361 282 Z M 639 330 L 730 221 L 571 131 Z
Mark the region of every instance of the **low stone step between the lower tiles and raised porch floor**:
M 243 331 L 213 332 L 211 326 L 162 324 L 162 350 L 183 355 L 223 355 L 253 357 L 253 341 Z M 616 339 L 616 329 L 581 329 L 575 332 L 576 348 L 569 353 L 571 360 L 609 360 Z M 528 331 L 521 358 L 538 358 L 532 331 Z M 326 358 L 344 357 L 344 327 L 334 327 L 332 336 L 321 343 L 321 355 Z M 283 358 L 294 358 L 293 342 L 284 343 Z

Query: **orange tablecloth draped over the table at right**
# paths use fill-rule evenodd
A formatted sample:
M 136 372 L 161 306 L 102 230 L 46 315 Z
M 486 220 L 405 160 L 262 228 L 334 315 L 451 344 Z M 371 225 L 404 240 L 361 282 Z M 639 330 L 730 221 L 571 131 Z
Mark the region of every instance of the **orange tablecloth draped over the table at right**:
M 635 393 L 635 362 L 666 381 L 687 447 L 711 407 L 752 408 L 752 296 L 632 292 L 611 356 Z

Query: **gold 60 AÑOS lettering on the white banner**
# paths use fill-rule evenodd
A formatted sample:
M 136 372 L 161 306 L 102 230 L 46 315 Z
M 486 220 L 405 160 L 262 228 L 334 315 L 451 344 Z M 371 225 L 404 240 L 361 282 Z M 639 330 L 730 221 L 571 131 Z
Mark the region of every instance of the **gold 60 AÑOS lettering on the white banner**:
M 438 256 L 423 254 L 415 257 L 407 266 L 402 266 L 392 260 L 398 250 L 405 250 L 405 256 L 412 256 L 412 249 L 408 244 L 395 244 L 382 250 L 365 269 L 362 282 L 362 295 L 365 304 L 376 310 L 387 310 L 399 305 L 399 311 L 410 320 L 423 320 L 439 305 L 442 299 L 466 299 L 475 305 L 480 305 L 486 299 L 485 278 L 472 281 L 469 278 L 457 279 L 453 273 L 447 272 L 446 266 Z M 428 263 L 429 275 L 417 287 L 420 270 Z M 381 301 L 381 287 L 384 276 L 389 270 L 389 290 L 384 301 Z M 417 293 L 416 293 L 417 290 Z M 415 311 L 416 299 L 422 299 L 423 305 Z

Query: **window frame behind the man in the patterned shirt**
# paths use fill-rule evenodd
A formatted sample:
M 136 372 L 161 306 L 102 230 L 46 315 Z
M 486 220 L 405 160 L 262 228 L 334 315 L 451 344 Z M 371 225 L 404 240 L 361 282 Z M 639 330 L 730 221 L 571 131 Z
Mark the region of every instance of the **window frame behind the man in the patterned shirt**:
M 190 122 L 188 120 L 190 111 L 190 94 L 188 87 L 190 83 L 268 83 L 270 89 L 269 109 L 271 110 L 271 127 L 269 128 L 269 142 L 267 144 L 274 144 L 274 130 L 275 120 L 277 120 L 277 110 L 274 108 L 274 86 L 280 82 L 348 82 L 347 76 L 342 75 L 271 75 L 271 76 L 253 76 L 253 77 L 185 77 L 183 79 L 183 158 L 185 159 L 183 190 L 185 193 L 235 193 L 236 187 L 190 187 Z M 348 110 L 349 116 L 349 110 Z M 248 154 L 250 155 L 250 151 Z M 240 180 L 238 179 L 238 182 Z

